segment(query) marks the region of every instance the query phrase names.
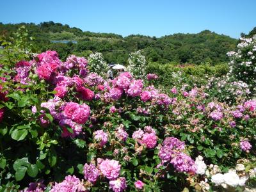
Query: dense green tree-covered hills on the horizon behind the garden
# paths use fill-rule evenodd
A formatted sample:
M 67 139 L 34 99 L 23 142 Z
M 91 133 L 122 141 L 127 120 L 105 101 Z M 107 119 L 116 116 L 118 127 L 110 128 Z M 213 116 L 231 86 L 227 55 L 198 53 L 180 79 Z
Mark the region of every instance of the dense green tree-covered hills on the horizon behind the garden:
M 147 61 L 151 62 L 215 65 L 228 61 L 226 53 L 237 44 L 236 39 L 209 30 L 197 34 L 177 33 L 160 38 L 144 35 L 123 37 L 113 33 L 82 31 L 52 21 L 40 24 L 0 22 L 0 33 L 11 34 L 22 25 L 26 26 L 30 36 L 35 37 L 36 51 L 55 50 L 63 60 L 69 54 L 86 57 L 91 52 L 98 51 L 102 52 L 109 63 L 125 63 L 131 52 L 141 49 Z M 75 40 L 77 44 L 52 43 L 52 40 Z

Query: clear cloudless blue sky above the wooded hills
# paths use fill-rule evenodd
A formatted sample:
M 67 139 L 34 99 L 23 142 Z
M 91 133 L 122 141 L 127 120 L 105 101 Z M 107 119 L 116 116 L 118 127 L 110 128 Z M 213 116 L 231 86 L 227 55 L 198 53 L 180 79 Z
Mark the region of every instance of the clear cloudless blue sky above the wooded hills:
M 52 20 L 123 36 L 209 29 L 239 38 L 256 27 L 256 0 L 1 0 L 0 7 L 3 23 Z

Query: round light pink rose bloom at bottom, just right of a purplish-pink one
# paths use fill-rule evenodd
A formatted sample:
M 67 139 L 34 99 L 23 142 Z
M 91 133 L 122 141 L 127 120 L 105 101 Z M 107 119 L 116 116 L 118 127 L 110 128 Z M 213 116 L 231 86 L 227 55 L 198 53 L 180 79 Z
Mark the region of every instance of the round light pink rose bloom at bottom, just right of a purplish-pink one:
M 113 180 L 119 176 L 121 165 L 118 161 L 106 159 L 99 164 L 99 168 L 105 177 Z

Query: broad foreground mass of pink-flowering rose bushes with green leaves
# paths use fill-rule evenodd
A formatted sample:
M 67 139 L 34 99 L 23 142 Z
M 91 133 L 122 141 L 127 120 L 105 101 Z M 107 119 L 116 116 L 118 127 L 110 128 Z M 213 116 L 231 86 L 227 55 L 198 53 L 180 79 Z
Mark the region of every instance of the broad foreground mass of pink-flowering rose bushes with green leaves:
M 88 66 L 55 51 L 1 66 L 0 191 L 255 185 L 255 99 L 228 105 L 205 86 L 161 90 L 129 72 L 107 81 Z

